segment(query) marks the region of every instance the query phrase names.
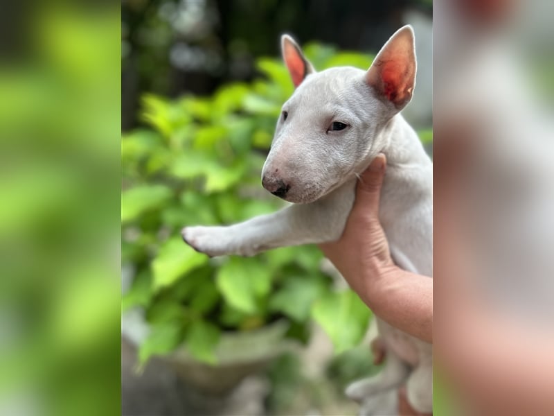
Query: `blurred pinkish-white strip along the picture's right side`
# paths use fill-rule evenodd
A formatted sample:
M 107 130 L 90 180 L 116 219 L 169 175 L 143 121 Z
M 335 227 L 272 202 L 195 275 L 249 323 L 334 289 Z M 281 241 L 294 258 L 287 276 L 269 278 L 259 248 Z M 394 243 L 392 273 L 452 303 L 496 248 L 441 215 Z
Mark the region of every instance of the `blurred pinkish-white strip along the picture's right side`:
M 554 413 L 553 13 L 548 0 L 435 4 L 440 414 Z

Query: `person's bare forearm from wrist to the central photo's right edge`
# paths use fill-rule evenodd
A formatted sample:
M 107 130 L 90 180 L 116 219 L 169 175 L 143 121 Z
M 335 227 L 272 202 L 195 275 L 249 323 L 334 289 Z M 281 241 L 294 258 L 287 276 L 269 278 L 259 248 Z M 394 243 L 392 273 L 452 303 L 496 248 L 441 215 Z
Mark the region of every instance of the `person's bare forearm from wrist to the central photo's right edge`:
M 382 320 L 428 343 L 433 342 L 433 280 L 397 266 L 369 268 L 362 300 Z

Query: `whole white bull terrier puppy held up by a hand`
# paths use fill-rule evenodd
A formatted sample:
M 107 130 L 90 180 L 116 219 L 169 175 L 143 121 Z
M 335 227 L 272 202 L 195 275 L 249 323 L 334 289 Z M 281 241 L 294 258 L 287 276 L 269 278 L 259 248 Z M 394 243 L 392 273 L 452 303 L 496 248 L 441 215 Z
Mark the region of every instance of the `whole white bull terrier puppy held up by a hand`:
M 400 29 L 368 71 L 341 67 L 315 73 L 294 41 L 283 56 L 296 91 L 283 105 L 262 172 L 266 189 L 293 205 L 229 227 L 186 227 L 185 241 L 206 254 L 250 256 L 262 250 L 335 241 L 355 198 L 356 177 L 378 153 L 387 157 L 379 218 L 401 268 L 432 272 L 432 164 L 398 112 L 415 82 L 413 33 Z M 396 389 L 432 410 L 431 345 L 377 320 L 386 345 L 382 373 L 350 385 L 361 412 L 397 412 Z

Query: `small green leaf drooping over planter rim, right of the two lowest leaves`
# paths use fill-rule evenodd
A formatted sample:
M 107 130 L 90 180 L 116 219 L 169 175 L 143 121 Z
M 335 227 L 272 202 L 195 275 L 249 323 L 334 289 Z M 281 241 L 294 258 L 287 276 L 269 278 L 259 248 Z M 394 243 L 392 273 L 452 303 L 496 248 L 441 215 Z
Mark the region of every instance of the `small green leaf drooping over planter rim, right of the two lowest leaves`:
M 186 347 L 190 355 L 198 361 L 215 364 L 215 347 L 220 340 L 220 329 L 204 320 L 197 320 L 190 325 L 186 333 Z

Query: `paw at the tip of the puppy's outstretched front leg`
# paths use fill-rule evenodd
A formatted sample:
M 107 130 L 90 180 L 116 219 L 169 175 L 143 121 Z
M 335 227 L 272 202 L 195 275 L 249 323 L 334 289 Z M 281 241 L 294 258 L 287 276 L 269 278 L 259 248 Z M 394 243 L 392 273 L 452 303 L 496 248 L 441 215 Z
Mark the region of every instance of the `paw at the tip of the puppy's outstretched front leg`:
M 197 252 L 208 254 L 209 257 L 231 254 L 232 248 L 229 244 L 229 232 L 226 227 L 184 227 L 181 229 L 181 236 L 185 243 L 194 248 Z

